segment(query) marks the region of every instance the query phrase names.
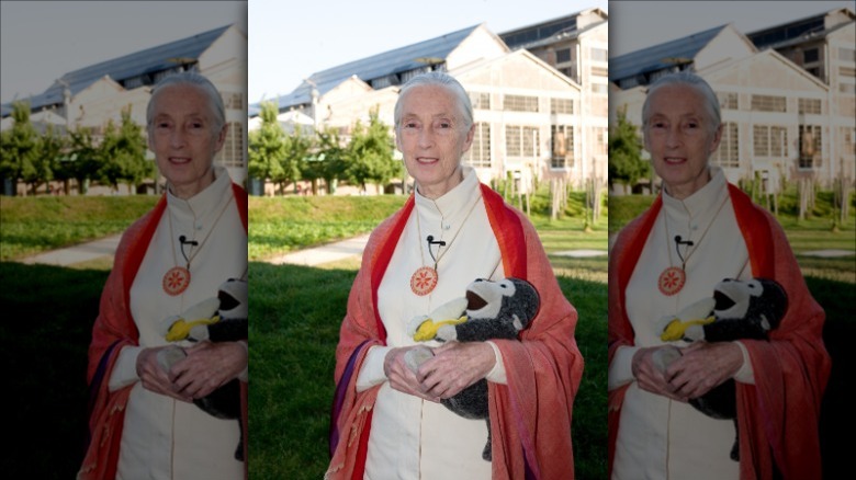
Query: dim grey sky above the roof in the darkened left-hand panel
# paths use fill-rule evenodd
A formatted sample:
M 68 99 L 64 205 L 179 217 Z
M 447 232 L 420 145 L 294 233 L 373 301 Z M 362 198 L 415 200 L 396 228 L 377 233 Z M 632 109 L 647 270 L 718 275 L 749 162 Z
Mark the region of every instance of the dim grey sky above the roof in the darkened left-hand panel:
M 246 1 L 0 1 L 0 102 L 44 92 L 63 75 L 219 26 Z

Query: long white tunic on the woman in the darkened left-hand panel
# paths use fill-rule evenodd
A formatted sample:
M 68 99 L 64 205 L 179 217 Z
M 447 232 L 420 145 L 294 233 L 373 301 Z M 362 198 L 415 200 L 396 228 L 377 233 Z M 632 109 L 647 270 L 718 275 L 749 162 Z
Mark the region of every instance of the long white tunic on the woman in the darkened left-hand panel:
M 136 375 L 139 351 L 167 344 L 158 332 L 161 320 L 215 297 L 223 282 L 246 272 L 247 236 L 235 206 L 232 181 L 225 169 L 215 172 L 215 182 L 189 201 L 167 194 L 167 210 L 131 288 L 131 312 L 139 330 L 139 346 L 122 350 L 110 378 L 113 390 L 135 384 L 122 433 L 120 479 L 244 478 L 244 465 L 234 458 L 240 441 L 237 420 L 215 419 L 193 403 L 151 392 L 143 388 Z M 182 295 L 171 297 L 164 292 L 161 279 L 176 262 L 184 265 L 178 241 L 182 235 L 200 242 L 193 248 L 199 253 L 190 266 L 190 286 Z M 188 256 L 192 254 L 189 245 L 184 251 Z

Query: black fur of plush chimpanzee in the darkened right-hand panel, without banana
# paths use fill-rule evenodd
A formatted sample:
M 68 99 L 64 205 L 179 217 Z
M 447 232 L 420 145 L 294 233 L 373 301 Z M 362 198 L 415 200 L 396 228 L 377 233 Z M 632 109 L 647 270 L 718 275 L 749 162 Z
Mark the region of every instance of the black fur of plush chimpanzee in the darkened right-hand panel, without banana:
M 723 279 L 717 285 L 713 299 L 716 321 L 703 325 L 703 336 L 694 340 L 768 340 L 767 332 L 778 327 L 788 309 L 785 289 L 777 282 L 767 278 L 747 282 Z M 733 419 L 734 430 L 737 430 L 736 386 L 733 379 L 699 398 L 690 399 L 689 403 L 713 419 Z M 734 461 L 740 460 L 740 432 L 731 448 L 731 458 Z

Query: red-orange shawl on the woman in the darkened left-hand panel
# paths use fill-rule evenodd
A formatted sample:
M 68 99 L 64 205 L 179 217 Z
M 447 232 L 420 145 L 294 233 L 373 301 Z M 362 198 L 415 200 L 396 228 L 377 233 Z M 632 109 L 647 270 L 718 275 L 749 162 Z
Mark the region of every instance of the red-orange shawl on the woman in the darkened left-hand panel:
M 234 183 L 232 192 L 246 231 L 247 192 Z M 133 385 L 111 392 L 108 380 L 122 347 L 139 344 L 139 332 L 131 316 L 131 286 L 166 208 L 165 194 L 154 209 L 125 230 L 116 249 L 113 270 L 101 294 L 99 315 L 92 328 L 92 343 L 89 345 L 89 445 L 78 472 L 80 480 L 113 479 L 116 475 L 124 412 Z M 240 382 L 240 390 L 244 455 L 247 458 L 246 382 Z M 246 477 L 246 460 L 244 468 Z

